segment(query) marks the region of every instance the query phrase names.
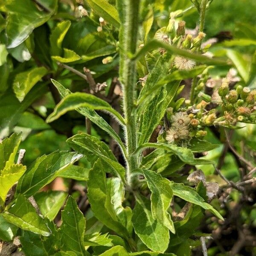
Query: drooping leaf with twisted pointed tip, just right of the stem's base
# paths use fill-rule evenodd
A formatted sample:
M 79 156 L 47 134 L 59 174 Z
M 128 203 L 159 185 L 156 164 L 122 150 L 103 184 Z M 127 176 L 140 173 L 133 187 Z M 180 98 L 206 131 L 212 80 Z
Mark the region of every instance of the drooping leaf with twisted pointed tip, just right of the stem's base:
M 154 219 L 175 233 L 174 224 L 168 210 L 172 201 L 170 181 L 160 174 L 150 170 L 143 170 L 144 177 L 151 191 L 151 212 Z

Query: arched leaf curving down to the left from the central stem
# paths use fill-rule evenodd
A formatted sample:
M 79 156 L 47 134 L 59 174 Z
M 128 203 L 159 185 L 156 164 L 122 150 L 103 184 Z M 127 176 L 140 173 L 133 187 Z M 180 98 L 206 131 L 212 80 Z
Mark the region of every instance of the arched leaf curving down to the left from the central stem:
M 121 122 L 123 125 L 125 124 L 122 115 L 114 110 L 111 105 L 108 104 L 108 102 L 105 102 L 105 100 L 89 93 L 72 93 L 64 97 L 61 102 L 56 105 L 53 113 L 48 116 L 47 122 L 52 122 L 68 111 L 81 107 L 108 111 L 109 113 L 113 114 L 113 116 L 115 116 L 119 122 Z

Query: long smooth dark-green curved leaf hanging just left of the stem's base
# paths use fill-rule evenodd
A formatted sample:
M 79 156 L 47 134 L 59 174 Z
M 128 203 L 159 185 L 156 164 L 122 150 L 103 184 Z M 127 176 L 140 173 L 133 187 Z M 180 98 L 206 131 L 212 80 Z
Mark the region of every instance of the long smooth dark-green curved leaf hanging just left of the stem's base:
M 117 218 L 111 203 L 111 194 L 107 187 L 105 174 L 106 169 L 109 169 L 106 163 L 98 159 L 93 165 L 93 169 L 90 170 L 89 180 L 87 181 L 89 203 L 99 221 L 120 236 L 128 239 L 128 231 Z

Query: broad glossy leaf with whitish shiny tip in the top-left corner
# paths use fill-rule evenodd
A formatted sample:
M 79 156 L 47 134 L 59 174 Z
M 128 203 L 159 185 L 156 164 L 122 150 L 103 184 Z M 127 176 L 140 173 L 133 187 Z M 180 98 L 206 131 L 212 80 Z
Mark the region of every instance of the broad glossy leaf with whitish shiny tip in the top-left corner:
M 57 6 L 57 1 L 54 1 L 54 6 Z M 36 27 L 47 22 L 52 15 L 52 12 L 39 11 L 35 3 L 30 0 L 9 1 L 6 9 L 8 11 L 6 22 L 7 48 L 17 47 L 29 37 Z

